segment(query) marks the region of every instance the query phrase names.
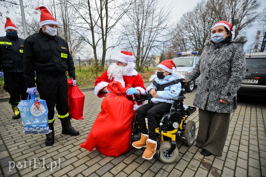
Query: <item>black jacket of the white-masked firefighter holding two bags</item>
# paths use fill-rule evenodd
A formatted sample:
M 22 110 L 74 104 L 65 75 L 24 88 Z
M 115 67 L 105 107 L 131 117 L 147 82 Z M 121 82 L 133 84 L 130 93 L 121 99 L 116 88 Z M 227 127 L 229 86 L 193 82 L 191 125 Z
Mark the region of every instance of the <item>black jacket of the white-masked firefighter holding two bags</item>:
M 28 88 L 35 86 L 35 75 L 60 77 L 66 74 L 75 79 L 75 67 L 68 43 L 61 37 L 42 32 L 30 35 L 24 42 L 24 77 Z

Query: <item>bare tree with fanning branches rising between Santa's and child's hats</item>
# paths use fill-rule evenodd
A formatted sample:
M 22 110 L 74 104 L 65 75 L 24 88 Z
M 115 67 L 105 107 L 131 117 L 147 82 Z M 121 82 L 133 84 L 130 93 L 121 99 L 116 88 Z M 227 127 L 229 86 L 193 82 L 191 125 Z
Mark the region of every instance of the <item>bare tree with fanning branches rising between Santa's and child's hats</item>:
M 122 22 L 123 47 L 133 51 L 139 72 L 151 50 L 169 40 L 166 29 L 170 9 L 164 4 L 159 0 L 136 0 Z

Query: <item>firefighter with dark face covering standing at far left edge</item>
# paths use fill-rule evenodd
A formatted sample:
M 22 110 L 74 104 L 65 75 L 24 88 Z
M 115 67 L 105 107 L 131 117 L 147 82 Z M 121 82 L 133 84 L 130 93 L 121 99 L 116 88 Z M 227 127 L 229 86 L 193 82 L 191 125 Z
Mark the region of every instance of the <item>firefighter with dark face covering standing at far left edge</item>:
M 10 94 L 9 104 L 14 112 L 12 119 L 19 119 L 21 116 L 17 105 L 28 96 L 22 66 L 24 39 L 18 37 L 17 27 L 8 16 L 6 18 L 7 35 L 0 37 L 0 77 L 4 78 L 3 88 Z

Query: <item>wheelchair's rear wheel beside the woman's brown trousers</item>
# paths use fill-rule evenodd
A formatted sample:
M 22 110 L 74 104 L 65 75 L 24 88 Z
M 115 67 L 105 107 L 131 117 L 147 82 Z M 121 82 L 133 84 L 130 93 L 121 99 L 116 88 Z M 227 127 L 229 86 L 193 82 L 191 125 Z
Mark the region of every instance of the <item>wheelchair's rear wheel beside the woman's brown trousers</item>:
M 185 137 L 184 143 L 186 145 L 191 146 L 193 144 L 195 139 L 195 133 L 196 133 L 196 124 L 194 121 L 189 120 L 186 123 L 186 127 L 184 130 L 184 137 Z

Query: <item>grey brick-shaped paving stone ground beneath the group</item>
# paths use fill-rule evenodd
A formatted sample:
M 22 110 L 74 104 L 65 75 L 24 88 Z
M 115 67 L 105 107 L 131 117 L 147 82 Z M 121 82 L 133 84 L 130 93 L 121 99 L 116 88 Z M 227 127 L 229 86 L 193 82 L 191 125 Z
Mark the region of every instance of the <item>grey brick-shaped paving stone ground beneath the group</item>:
M 44 145 L 45 135 L 23 133 L 21 120 L 11 119 L 11 106 L 7 101 L 0 102 L 0 176 L 266 176 L 266 105 L 263 101 L 258 103 L 245 98 L 238 101 L 235 113 L 231 114 L 221 157 L 204 157 L 195 142 L 189 147 L 178 141 L 178 162 L 168 165 L 156 159 L 144 160 L 142 150 L 132 149 L 115 158 L 104 156 L 96 149 L 89 152 L 79 147 L 86 140 L 103 100 L 97 98 L 93 90 L 83 93 L 84 120 L 72 121 L 80 136 L 62 135 L 61 123 L 56 119 L 53 146 Z M 192 106 L 194 95 L 195 90 L 187 93 L 184 103 Z M 198 110 L 189 119 L 198 129 Z

